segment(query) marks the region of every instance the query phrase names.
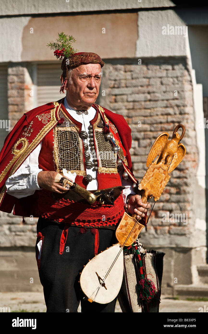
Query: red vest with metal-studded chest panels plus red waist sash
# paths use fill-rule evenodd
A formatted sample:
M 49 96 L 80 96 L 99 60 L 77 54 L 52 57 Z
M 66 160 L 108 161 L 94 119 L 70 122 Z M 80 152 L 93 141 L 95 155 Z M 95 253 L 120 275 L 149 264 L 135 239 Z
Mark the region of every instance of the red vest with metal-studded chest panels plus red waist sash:
M 118 166 L 128 166 L 126 151 L 121 143 L 118 131 L 106 117 L 105 111 L 98 105 L 93 105 L 96 114 L 90 121 L 88 132 L 81 131 L 82 124 L 72 118 L 63 105 L 59 110 L 61 124 L 56 125 L 42 141 L 39 153 L 39 168 L 54 170 L 62 174 L 63 168 L 76 172 L 75 182 L 86 189 L 92 176 L 87 169 L 97 172 L 97 189 L 121 186 Z M 89 147 L 83 142 L 89 139 Z M 92 162 L 90 161 L 93 155 Z M 87 168 L 86 168 L 87 167 Z M 128 178 L 128 168 L 124 168 L 123 177 Z M 60 209 L 61 208 L 61 209 Z M 122 194 L 114 205 L 95 205 L 78 203 L 65 199 L 55 201 L 51 192 L 45 189 L 38 191 L 38 209 L 42 217 L 64 221 L 70 225 L 100 227 L 112 226 L 118 223 L 124 213 Z

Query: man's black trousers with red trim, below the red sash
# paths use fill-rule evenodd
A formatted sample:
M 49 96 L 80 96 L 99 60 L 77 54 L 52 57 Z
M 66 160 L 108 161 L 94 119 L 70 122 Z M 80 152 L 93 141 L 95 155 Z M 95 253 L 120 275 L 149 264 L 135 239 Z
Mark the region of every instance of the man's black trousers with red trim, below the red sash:
M 63 224 L 51 223 L 38 219 L 37 233 L 43 235 L 39 277 L 43 286 L 47 312 L 77 312 L 81 301 L 81 312 L 115 312 L 116 299 L 109 304 L 90 303 L 83 300 L 83 293 L 78 283 L 79 273 L 89 259 L 94 257 L 95 236 L 87 228 L 80 233 L 79 227 L 69 226 L 64 251 L 60 254 L 60 241 Z M 118 242 L 115 230 L 98 229 L 98 253 Z M 37 243 L 36 241 L 36 259 Z

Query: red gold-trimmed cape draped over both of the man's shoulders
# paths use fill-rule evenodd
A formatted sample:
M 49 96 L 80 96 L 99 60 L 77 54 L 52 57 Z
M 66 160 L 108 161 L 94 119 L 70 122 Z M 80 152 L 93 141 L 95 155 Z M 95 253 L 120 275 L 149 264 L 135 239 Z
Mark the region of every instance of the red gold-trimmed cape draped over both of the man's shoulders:
M 58 102 L 48 103 L 37 107 L 25 113 L 14 126 L 12 131 L 5 139 L 4 146 L 0 152 L 0 210 L 11 212 L 13 206 L 14 214 L 22 216 L 30 216 L 30 203 L 35 201 L 37 197 L 36 190 L 33 195 L 24 198 L 15 198 L 7 194 L 5 191 L 5 181 L 9 176 L 21 166 L 29 154 L 39 145 L 43 138 L 61 121 L 59 109 L 64 109 L 62 105 L 63 99 Z M 129 150 L 131 148 L 131 129 L 125 121 L 124 117 L 115 114 L 105 108 L 93 104 L 93 107 L 100 112 L 103 110 L 107 119 L 115 125 L 118 130 L 122 145 L 126 151 L 126 160 L 128 166 L 123 164 L 125 170 L 129 174 L 132 182 L 137 180 L 132 173 L 132 162 Z M 101 115 L 103 114 L 100 112 Z M 102 115 L 103 116 L 103 115 Z M 32 131 L 31 131 L 32 128 Z

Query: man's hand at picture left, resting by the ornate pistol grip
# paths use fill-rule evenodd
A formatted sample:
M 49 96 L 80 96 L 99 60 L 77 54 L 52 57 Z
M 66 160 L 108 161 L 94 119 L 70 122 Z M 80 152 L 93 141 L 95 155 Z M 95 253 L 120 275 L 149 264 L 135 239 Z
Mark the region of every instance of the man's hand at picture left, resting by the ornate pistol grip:
M 46 190 L 50 190 L 53 192 L 57 192 L 58 194 L 63 194 L 68 191 L 68 188 L 63 188 L 60 183 L 54 182 L 55 176 L 58 173 L 55 171 L 41 171 L 37 175 L 37 182 L 40 188 L 44 188 Z M 62 175 L 66 179 L 72 181 L 67 176 Z

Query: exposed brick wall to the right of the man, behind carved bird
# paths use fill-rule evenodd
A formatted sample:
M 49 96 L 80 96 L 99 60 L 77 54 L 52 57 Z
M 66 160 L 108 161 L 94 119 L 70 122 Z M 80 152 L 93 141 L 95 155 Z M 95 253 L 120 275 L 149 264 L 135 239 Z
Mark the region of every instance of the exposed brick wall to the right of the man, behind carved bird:
M 120 64 L 107 60 L 104 69 L 101 90 L 106 95 L 99 102 L 123 115 L 132 129 L 130 153 L 136 178 L 141 180 L 147 170 L 146 159 L 154 140 L 162 132 L 168 132 L 171 138 L 177 124 L 186 128 L 182 140 L 186 156 L 172 172 L 168 185 L 155 204 L 149 233 L 148 236 L 143 233 L 143 240 L 155 246 L 189 246 L 187 236 L 193 232 L 194 224 L 190 175 L 193 178 L 196 174 L 198 151 L 193 88 L 186 59 L 142 59 L 141 65 L 135 60 L 121 60 Z M 182 213 L 184 217 L 188 214 L 188 224 L 162 222 L 162 214 L 167 212 Z

